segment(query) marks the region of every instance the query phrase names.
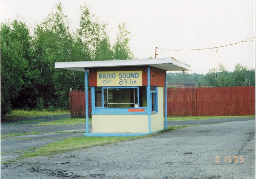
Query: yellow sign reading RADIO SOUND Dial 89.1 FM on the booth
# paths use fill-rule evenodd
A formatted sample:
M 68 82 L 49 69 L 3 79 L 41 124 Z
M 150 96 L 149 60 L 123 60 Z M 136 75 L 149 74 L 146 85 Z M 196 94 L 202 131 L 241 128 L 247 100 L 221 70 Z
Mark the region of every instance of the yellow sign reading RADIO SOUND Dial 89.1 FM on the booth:
M 98 71 L 97 86 L 142 86 L 142 71 Z

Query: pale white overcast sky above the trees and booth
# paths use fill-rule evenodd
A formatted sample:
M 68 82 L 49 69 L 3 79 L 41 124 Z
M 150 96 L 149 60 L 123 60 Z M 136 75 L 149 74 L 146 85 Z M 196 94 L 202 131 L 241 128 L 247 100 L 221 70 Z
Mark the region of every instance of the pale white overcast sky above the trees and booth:
M 108 23 L 112 43 L 118 23 L 126 22 L 136 58 L 154 58 L 158 47 L 158 58 L 173 57 L 187 63 L 192 69 L 189 73 L 206 74 L 213 69 L 216 48 L 162 48 L 210 48 L 255 37 L 254 0 L 1 0 L 1 22 L 20 15 L 33 28 L 58 2 L 73 21 L 73 29 L 79 21 L 80 5 L 89 5 L 100 21 Z M 255 41 L 218 48 L 217 66 L 219 63 L 228 71 L 233 71 L 237 63 L 255 69 Z

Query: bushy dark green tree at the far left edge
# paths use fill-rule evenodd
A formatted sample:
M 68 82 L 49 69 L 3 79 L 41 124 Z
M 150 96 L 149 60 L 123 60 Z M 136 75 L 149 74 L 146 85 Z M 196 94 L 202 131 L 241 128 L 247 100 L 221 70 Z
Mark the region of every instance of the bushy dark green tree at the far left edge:
M 31 70 L 30 38 L 21 21 L 1 24 L 1 116 L 8 114 L 12 105 L 19 105 L 21 90 L 31 86 L 37 76 L 37 71 Z

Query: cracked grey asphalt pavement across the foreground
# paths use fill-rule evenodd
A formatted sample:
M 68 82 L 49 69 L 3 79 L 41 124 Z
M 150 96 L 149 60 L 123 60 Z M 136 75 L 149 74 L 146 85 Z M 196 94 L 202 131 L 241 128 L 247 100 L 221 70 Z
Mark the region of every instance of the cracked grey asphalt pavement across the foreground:
M 216 120 L 211 125 L 177 129 L 153 137 L 2 164 L 1 178 L 255 178 L 255 119 L 228 122 L 221 119 L 215 123 Z M 186 122 L 177 125 L 181 123 L 186 125 Z M 1 126 L 1 134 L 2 130 Z M 69 137 L 81 134 L 69 133 Z M 59 135 L 55 136 L 59 140 L 68 137 L 49 135 L 52 140 L 54 135 Z M 1 140 L 1 153 L 7 144 L 4 142 L 9 140 Z M 34 144 L 37 141 L 34 139 Z M 10 150 L 13 146 L 8 147 Z

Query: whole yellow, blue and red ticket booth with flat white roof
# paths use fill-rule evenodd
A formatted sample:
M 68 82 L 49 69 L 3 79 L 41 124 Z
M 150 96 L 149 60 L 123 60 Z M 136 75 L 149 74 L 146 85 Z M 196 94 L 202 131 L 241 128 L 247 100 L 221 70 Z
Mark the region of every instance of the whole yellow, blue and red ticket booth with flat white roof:
M 170 57 L 56 62 L 55 68 L 85 72 L 84 136 L 137 136 L 167 129 L 166 71 L 190 70 L 190 65 Z M 92 132 L 88 87 L 92 92 Z

